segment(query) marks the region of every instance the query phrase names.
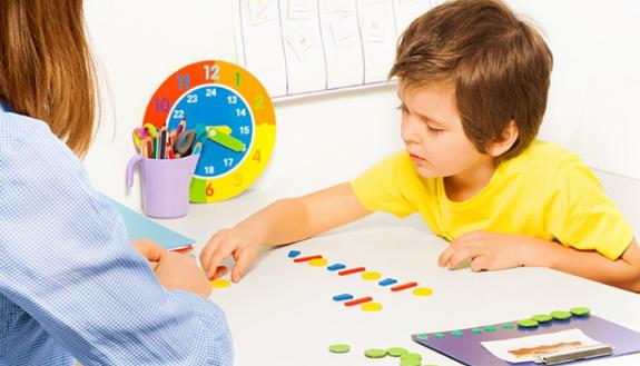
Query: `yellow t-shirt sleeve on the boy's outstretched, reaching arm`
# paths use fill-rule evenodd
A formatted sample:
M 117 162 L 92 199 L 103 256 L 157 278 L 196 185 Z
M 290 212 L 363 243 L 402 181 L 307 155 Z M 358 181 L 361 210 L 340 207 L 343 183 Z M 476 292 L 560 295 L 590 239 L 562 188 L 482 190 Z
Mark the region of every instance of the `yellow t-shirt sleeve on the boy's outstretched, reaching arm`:
M 415 175 L 408 156 L 400 151 L 361 174 L 351 186 L 360 204 L 370 211 L 405 217 L 417 211 L 403 194 L 403 185 L 415 179 Z

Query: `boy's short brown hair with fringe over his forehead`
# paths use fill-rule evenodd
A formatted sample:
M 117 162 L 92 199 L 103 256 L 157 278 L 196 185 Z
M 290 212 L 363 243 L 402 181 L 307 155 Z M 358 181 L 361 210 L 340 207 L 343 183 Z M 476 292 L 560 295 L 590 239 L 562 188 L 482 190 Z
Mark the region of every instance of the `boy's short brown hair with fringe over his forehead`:
M 499 159 L 522 152 L 547 108 L 553 56 L 542 37 L 502 2 L 447 1 L 402 34 L 390 71 L 415 88 L 447 82 L 467 138 L 480 152 L 513 120 L 519 137 Z

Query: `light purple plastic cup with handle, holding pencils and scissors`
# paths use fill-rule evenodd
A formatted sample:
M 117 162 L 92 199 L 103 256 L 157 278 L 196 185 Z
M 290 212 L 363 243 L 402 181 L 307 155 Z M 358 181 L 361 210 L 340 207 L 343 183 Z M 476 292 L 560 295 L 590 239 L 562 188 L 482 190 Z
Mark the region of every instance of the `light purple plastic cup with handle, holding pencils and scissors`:
M 148 159 L 135 155 L 127 164 L 127 187 L 140 165 L 142 212 L 155 218 L 183 217 L 189 211 L 189 186 L 199 154 L 180 159 Z

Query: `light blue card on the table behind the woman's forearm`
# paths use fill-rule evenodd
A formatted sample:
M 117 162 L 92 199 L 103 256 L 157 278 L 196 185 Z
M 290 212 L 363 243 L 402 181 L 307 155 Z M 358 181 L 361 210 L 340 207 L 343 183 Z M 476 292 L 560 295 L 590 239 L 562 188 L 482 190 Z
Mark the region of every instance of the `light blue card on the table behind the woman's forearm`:
M 112 198 L 105 195 L 102 195 L 102 197 L 105 197 L 105 199 L 109 201 L 118 212 L 120 212 L 120 216 L 122 216 L 125 225 L 127 226 L 127 231 L 129 233 L 129 240 L 131 241 L 150 239 L 168 250 L 191 248 L 191 245 L 195 243 L 194 239 L 164 227 Z

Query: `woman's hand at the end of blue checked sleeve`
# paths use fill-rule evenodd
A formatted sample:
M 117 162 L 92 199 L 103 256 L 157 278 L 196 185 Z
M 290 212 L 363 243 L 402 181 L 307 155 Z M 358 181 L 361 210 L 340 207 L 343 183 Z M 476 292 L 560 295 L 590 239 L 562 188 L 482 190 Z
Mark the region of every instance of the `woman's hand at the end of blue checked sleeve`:
M 181 289 L 208 297 L 211 286 L 189 256 L 170 253 L 151 240 L 136 240 L 134 248 L 149 261 L 151 270 L 167 289 Z

